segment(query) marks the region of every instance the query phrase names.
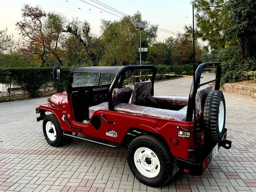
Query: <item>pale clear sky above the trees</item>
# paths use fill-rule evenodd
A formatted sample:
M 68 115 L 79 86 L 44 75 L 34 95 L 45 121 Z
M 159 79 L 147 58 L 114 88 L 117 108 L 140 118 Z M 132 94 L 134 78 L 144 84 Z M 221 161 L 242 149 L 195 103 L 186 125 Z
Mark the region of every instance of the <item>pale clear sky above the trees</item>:
M 68 1 L 68 2 L 67 2 Z M 31 6 L 39 5 L 45 12 L 58 12 L 67 17 L 68 20 L 78 17 L 79 20 L 86 20 L 91 24 L 91 31 L 100 35 L 101 20 L 119 20 L 120 18 L 108 12 L 102 11 L 93 4 L 104 10 L 105 7 L 94 2 L 96 0 L 0 0 L 0 30 L 8 29 L 8 34 L 13 34 L 17 40 L 20 38 L 19 31 L 16 30 L 15 23 L 21 20 L 20 9 L 24 4 Z M 94 2 L 93 2 L 94 1 Z M 97 3 L 104 3 L 120 12 L 133 15 L 137 11 L 141 12 L 142 19 L 150 24 L 158 24 L 159 28 L 184 32 L 185 25 L 192 23 L 191 0 L 98 0 Z M 80 8 L 80 9 L 78 9 Z M 112 12 L 117 15 L 117 13 Z M 170 33 L 158 31 L 157 41 L 164 41 L 165 38 L 173 36 Z

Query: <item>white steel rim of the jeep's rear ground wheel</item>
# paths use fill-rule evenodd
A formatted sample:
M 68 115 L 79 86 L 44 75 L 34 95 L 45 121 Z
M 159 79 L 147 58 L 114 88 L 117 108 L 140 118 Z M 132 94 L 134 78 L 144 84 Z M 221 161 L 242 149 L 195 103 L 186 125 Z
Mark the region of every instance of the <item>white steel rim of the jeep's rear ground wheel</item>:
M 145 177 L 156 177 L 160 172 L 160 161 L 154 151 L 146 147 L 138 148 L 134 153 L 134 164 Z

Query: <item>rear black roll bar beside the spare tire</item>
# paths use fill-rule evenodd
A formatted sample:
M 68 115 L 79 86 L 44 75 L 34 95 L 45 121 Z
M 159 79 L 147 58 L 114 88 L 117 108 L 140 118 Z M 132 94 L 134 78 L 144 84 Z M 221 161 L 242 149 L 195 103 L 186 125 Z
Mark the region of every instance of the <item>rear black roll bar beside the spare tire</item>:
M 204 70 L 204 68 L 217 68 L 216 71 L 216 76 L 215 79 L 212 81 L 208 81 L 205 82 L 203 84 L 200 84 L 200 78 L 202 75 L 202 72 Z M 193 111 L 196 110 L 195 109 L 195 103 L 196 103 L 196 92 L 197 89 L 200 86 L 203 86 L 205 84 L 208 83 L 212 83 L 215 81 L 215 88 L 214 90 L 220 90 L 220 76 L 221 76 L 221 67 L 220 67 L 220 63 L 202 63 L 200 64 L 197 69 L 196 69 L 196 75 L 195 75 L 195 89 L 194 89 L 194 82 L 192 83 L 191 89 L 190 89 L 190 93 L 189 93 L 189 98 L 188 98 L 188 109 L 187 109 L 187 117 L 186 117 L 186 121 L 192 121 L 192 117 L 193 117 Z

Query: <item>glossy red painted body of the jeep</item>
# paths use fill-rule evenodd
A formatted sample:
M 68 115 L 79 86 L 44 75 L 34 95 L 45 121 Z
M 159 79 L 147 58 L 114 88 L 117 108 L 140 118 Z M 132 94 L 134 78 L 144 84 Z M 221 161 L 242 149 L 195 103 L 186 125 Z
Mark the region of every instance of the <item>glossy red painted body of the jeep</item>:
M 52 103 L 50 100 L 50 103 L 39 106 L 39 113 L 41 110 L 49 111 L 53 113 L 57 117 L 60 123 L 60 126 L 64 131 L 78 132 L 86 136 L 109 140 L 116 143 L 122 143 L 122 140 L 125 134 L 127 133 L 127 131 L 133 127 L 133 128 L 137 128 L 137 129 L 145 130 L 147 132 L 152 132 L 152 133 L 161 135 L 164 138 L 164 140 L 166 140 L 166 143 L 168 144 L 172 154 L 175 157 L 182 158 L 182 159 L 189 159 L 193 156 L 192 154 L 188 153 L 189 148 L 194 148 L 193 132 L 190 132 L 190 139 L 180 138 L 177 136 L 177 131 L 181 131 L 180 129 L 177 129 L 177 126 L 181 126 L 188 130 L 193 130 L 194 129 L 193 122 L 181 122 L 181 121 L 161 119 L 161 118 L 149 117 L 149 116 L 130 115 L 130 114 L 109 111 L 109 110 L 98 110 L 93 114 L 93 116 L 98 115 L 101 117 L 101 114 L 103 113 L 105 115 L 104 117 L 105 119 L 107 119 L 108 121 L 114 121 L 115 124 L 108 124 L 102 120 L 100 129 L 97 131 L 90 123 L 83 124 L 75 121 L 74 113 L 71 110 L 72 109 L 71 96 L 69 101 L 67 99 L 66 93 L 55 94 L 52 97 L 57 99 L 59 101 L 59 104 L 56 105 L 55 103 Z M 64 114 L 62 113 L 62 111 L 66 111 L 66 113 Z M 61 119 L 63 115 L 65 115 L 68 118 L 68 121 L 72 125 L 73 129 L 71 129 L 68 126 L 67 122 Z M 200 117 L 197 118 L 198 122 L 199 120 L 200 120 Z M 82 128 L 82 131 L 74 130 L 74 127 L 77 127 L 80 129 Z M 109 130 L 116 131 L 118 134 L 118 137 L 114 138 L 114 137 L 107 136 L 106 132 Z M 170 141 L 171 137 L 177 138 L 179 140 L 179 144 L 173 145 Z

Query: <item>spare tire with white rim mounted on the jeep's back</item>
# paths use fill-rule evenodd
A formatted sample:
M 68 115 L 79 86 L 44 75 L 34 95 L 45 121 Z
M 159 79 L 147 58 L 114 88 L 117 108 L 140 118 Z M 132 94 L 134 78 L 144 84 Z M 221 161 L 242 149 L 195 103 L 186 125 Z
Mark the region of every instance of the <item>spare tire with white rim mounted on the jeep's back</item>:
M 210 91 L 204 103 L 204 126 L 206 136 L 218 142 L 225 133 L 226 104 L 221 91 Z

